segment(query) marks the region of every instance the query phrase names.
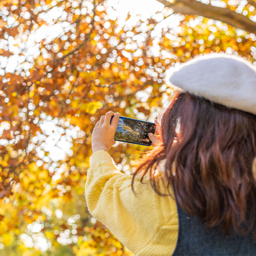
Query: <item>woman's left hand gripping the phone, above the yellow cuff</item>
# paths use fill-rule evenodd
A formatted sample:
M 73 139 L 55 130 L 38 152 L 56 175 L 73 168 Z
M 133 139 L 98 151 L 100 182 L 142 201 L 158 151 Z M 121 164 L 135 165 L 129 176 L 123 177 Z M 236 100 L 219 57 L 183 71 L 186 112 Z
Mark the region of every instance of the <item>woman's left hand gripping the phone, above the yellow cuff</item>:
M 110 124 L 111 116 L 113 116 Z M 110 111 L 105 116 L 101 116 L 100 120 L 96 123 L 92 134 L 92 150 L 93 153 L 99 150 L 109 151 L 110 148 L 116 143 L 114 140 L 119 113 L 114 114 Z

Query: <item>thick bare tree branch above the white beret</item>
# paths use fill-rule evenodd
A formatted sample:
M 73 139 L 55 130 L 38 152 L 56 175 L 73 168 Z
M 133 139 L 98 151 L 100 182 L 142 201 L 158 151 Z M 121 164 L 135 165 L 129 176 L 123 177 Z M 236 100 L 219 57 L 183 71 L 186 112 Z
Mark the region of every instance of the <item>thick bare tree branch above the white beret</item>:
M 226 23 L 233 27 L 245 30 L 249 33 L 256 34 L 256 23 L 247 18 L 244 15 L 231 11 L 229 8 L 220 8 L 211 5 L 205 5 L 196 0 L 177 0 L 175 3 L 169 3 L 166 0 L 156 0 L 166 7 L 172 8 L 174 12 L 187 14 L 187 15 L 199 15 L 206 18 L 212 18 L 220 20 L 220 22 Z M 249 4 L 256 6 L 256 3 L 249 0 Z

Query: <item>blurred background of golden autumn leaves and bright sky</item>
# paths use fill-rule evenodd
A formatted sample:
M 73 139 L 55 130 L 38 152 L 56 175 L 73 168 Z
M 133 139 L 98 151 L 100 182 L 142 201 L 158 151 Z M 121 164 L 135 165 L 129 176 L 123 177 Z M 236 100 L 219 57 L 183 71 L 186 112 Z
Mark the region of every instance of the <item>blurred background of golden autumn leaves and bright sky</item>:
M 110 110 L 153 121 L 172 93 L 166 69 L 197 54 L 254 62 L 255 7 L 1 0 L 0 255 L 133 255 L 86 207 L 93 127 Z M 116 143 L 109 153 L 132 174 L 148 150 Z

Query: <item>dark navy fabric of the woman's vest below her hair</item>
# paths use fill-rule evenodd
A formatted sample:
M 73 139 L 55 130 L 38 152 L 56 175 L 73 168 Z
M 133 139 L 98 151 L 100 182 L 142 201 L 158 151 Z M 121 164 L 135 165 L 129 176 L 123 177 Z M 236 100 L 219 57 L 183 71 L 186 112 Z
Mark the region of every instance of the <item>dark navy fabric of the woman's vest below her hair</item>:
M 201 219 L 188 215 L 177 203 L 179 234 L 173 256 L 256 256 L 252 235 L 242 236 L 232 229 L 230 236 L 209 230 Z

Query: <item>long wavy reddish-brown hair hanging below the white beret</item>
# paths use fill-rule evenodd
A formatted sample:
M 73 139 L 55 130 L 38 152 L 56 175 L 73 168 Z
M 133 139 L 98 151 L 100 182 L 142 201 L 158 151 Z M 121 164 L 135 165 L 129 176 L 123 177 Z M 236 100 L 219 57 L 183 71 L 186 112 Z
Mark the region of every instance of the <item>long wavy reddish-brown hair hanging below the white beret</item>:
M 254 230 L 256 116 L 175 91 L 160 122 L 162 144 L 142 158 L 133 191 L 135 177 L 141 173 L 143 182 L 148 174 L 157 194 L 170 195 L 174 187 L 179 205 L 208 228 L 219 226 L 226 235 L 232 226 L 243 234 Z

